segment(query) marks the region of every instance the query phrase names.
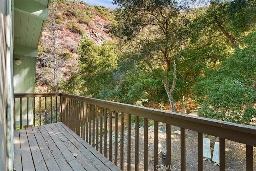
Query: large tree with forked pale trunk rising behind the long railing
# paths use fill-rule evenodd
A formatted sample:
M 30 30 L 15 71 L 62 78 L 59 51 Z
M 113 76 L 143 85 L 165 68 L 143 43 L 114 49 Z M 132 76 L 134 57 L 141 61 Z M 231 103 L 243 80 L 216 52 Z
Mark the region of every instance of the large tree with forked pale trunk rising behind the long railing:
M 164 84 L 172 111 L 176 111 L 172 93 L 177 82 L 177 62 L 187 41 L 187 2 L 175 0 L 114 0 L 112 34 L 127 41 L 135 50 L 131 58 L 143 70 L 158 76 Z M 172 79 L 171 79 L 172 78 Z M 170 80 L 172 83 L 170 83 Z

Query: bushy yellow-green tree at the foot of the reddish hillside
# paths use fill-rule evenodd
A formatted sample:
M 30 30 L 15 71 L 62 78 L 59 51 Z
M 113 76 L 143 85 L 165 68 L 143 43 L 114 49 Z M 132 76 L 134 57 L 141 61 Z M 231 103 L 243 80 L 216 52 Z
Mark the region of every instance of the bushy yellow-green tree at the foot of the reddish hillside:
M 82 34 L 78 54 L 79 72 L 62 86 L 64 91 L 70 91 L 70 87 L 73 89 L 76 87 L 77 91 L 73 93 L 109 100 L 108 97 L 102 95 L 102 91 L 106 89 L 110 91 L 113 87 L 112 77 L 119 56 L 116 43 L 106 41 L 102 46 L 98 46 Z

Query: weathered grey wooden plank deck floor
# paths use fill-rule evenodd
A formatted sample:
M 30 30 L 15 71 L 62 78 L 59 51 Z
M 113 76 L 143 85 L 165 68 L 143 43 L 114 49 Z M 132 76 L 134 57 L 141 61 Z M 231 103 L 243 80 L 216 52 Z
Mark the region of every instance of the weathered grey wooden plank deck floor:
M 16 171 L 120 170 L 61 122 L 14 131 Z

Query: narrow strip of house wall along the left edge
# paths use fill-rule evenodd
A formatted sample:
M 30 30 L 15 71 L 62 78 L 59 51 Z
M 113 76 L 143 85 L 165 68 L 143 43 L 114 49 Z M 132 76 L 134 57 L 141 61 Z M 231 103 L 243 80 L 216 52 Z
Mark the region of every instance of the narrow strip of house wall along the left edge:
M 0 171 L 13 170 L 12 0 L 0 0 Z

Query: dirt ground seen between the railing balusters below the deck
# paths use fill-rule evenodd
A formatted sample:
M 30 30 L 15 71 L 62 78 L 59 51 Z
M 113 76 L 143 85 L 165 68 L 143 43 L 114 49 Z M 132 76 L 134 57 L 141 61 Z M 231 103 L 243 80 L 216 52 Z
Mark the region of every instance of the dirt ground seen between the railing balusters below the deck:
M 180 130 L 179 127 L 171 127 L 171 162 L 172 170 L 180 170 L 180 135 L 174 131 Z M 139 170 L 144 170 L 144 131 L 140 131 L 139 140 Z M 135 136 L 135 130 L 132 130 L 131 136 Z M 159 142 L 166 150 L 166 132 L 159 131 Z M 207 136 L 204 136 L 207 137 Z M 213 154 L 214 142 L 219 141 L 216 137 L 209 137 L 211 143 L 211 156 Z M 154 130 L 148 130 L 148 144 L 154 143 Z M 114 144 L 113 144 L 114 148 Z M 186 130 L 186 170 L 198 170 L 198 142 L 197 132 Z M 135 140 L 131 140 L 131 170 L 135 170 Z M 120 151 L 120 143 L 118 144 Z M 127 134 L 124 133 L 124 170 L 127 170 Z M 114 149 L 113 149 L 114 154 Z M 154 170 L 154 156 L 148 152 L 148 171 Z M 151 160 L 150 160 L 151 159 Z M 158 163 L 162 164 L 162 154 L 158 155 Z M 211 159 L 212 160 L 212 159 Z M 219 166 L 215 162 L 204 161 L 204 171 L 219 171 Z M 118 166 L 120 167 L 120 152 L 118 152 Z M 246 145 L 226 140 L 226 170 L 227 171 L 245 171 L 246 170 Z M 254 147 L 254 170 L 256 170 L 256 147 Z

